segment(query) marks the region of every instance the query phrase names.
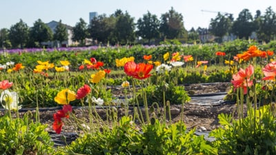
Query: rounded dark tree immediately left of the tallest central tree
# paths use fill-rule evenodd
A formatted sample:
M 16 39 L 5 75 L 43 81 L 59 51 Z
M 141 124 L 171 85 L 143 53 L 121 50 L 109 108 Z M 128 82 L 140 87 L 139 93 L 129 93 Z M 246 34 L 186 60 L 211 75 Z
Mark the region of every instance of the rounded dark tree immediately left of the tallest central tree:
M 140 18 L 137 21 L 137 35 L 143 39 L 148 39 L 148 43 L 150 43 L 150 39 L 159 37 L 159 25 L 160 21 L 157 16 L 148 12 L 143 15 L 143 19 Z

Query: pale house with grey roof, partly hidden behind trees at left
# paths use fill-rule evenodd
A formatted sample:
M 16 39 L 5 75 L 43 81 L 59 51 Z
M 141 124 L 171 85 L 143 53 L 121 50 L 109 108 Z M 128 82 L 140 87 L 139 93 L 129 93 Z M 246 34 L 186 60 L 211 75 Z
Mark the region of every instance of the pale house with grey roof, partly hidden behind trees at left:
M 59 24 L 59 22 L 57 21 L 50 21 L 49 23 L 46 23 L 46 25 L 49 26 L 49 28 L 52 30 L 53 34 L 55 34 L 55 29 L 57 27 L 57 25 Z M 63 41 L 61 43 L 61 45 L 59 45 L 58 41 L 48 41 L 48 42 L 44 42 L 43 45 L 49 46 L 49 47 L 68 47 L 69 45 L 75 45 L 75 42 L 72 41 L 72 37 L 73 37 L 73 27 L 70 25 L 66 25 L 66 30 L 68 33 L 68 39 L 66 41 Z

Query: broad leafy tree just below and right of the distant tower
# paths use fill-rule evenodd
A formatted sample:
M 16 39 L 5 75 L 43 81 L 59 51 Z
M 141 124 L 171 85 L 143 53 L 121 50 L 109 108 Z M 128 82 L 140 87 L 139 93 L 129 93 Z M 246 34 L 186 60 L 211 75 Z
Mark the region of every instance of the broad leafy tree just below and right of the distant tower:
M 95 17 L 88 28 L 90 37 L 102 43 L 108 43 L 112 39 L 115 30 L 116 19 L 114 16 L 106 17 L 106 14 Z

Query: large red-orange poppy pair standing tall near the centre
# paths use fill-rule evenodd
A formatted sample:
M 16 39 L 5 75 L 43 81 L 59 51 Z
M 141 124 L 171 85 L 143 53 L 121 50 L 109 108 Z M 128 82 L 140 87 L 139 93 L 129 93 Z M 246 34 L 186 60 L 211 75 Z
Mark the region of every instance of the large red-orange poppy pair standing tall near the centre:
M 151 76 L 150 71 L 152 70 L 153 65 L 146 63 L 138 63 L 136 64 L 133 61 L 127 62 L 124 65 L 124 72 L 128 76 L 132 76 L 135 79 L 147 79 Z

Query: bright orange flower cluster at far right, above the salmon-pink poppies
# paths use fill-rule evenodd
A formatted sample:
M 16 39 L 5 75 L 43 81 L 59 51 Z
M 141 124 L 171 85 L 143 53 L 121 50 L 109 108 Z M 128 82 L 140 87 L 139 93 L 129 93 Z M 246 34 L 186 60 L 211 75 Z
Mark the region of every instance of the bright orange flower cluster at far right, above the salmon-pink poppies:
M 237 58 L 248 61 L 253 57 L 266 58 L 267 56 L 272 56 L 273 54 L 273 51 L 262 51 L 259 50 L 255 45 L 251 45 L 246 52 L 243 52 L 242 54 L 237 54 Z

